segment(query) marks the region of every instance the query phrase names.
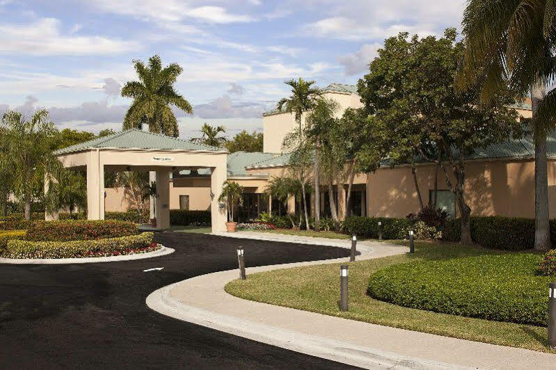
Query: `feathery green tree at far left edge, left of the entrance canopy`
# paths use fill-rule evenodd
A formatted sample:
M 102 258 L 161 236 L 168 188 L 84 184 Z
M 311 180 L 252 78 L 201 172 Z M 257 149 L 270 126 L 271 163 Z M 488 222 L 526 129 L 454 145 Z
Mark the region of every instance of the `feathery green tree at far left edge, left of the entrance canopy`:
M 57 130 L 45 110 L 35 112 L 30 120 L 25 120 L 22 113 L 6 112 L 1 129 L 5 130 L 3 147 L 11 159 L 13 191 L 24 203 L 25 218 L 29 220 L 37 188 L 44 184 L 47 173 L 57 173 L 62 166 L 51 150 Z

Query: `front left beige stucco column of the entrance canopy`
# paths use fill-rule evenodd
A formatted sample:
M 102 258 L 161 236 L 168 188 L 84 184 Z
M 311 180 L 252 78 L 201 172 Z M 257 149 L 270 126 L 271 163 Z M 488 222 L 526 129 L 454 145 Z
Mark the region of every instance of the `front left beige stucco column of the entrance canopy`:
M 87 163 L 87 218 L 104 220 L 104 165 L 100 152 L 92 150 Z

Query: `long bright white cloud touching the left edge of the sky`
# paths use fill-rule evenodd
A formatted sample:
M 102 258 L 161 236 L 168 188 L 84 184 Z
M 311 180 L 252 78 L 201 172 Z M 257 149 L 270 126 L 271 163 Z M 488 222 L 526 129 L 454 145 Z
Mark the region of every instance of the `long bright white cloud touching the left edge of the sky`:
M 30 55 L 119 54 L 138 48 L 135 42 L 102 36 L 63 35 L 61 22 L 42 18 L 31 24 L 0 24 L 0 53 Z

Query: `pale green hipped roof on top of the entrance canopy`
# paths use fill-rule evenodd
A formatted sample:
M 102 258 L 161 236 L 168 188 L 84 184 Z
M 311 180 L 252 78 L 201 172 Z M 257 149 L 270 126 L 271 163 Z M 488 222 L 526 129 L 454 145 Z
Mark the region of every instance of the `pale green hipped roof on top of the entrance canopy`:
M 54 154 L 60 155 L 82 152 L 90 149 L 106 148 L 225 152 L 225 150 L 219 147 L 191 143 L 191 141 L 182 140 L 180 138 L 172 138 L 166 135 L 153 134 L 152 132 L 141 131 L 138 129 L 130 129 L 104 136 L 102 138 L 95 138 L 93 140 L 86 141 L 85 143 L 65 147 L 61 150 L 56 150 Z

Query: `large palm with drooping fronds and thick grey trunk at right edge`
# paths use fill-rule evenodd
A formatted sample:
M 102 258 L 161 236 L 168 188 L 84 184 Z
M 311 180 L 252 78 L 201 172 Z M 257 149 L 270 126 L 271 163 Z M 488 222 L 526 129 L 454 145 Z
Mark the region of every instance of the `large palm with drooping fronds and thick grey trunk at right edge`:
M 550 248 L 546 135 L 554 129 L 556 91 L 545 86 L 556 77 L 553 0 L 469 0 L 463 15 L 466 52 L 459 88 L 482 88 L 485 102 L 502 88 L 531 95 L 535 145 L 535 249 Z

